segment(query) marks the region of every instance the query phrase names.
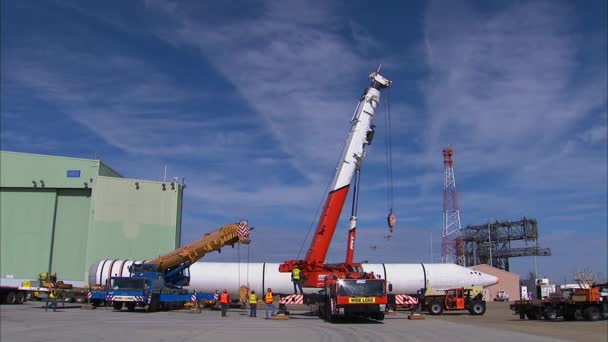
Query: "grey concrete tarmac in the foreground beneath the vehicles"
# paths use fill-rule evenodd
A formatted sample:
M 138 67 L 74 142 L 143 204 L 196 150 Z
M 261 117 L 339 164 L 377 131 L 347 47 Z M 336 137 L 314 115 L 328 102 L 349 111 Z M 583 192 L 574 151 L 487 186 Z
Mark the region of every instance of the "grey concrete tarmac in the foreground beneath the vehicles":
M 585 324 L 584 322 L 581 322 Z M 567 339 L 565 339 L 567 340 Z M 82 310 L 67 305 L 57 312 L 40 303 L 0 306 L 0 341 L 560 341 L 498 327 L 473 327 L 444 319 L 411 321 L 406 312 L 387 316 L 382 322 L 362 320 L 328 323 L 306 310 L 291 310 L 288 320 L 265 320 L 248 311 L 121 312 L 111 308 Z M 563 341 L 563 340 L 561 340 Z

